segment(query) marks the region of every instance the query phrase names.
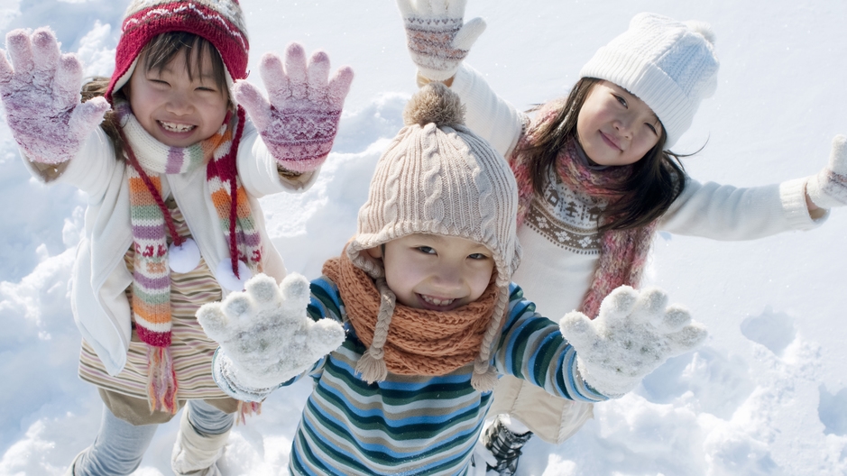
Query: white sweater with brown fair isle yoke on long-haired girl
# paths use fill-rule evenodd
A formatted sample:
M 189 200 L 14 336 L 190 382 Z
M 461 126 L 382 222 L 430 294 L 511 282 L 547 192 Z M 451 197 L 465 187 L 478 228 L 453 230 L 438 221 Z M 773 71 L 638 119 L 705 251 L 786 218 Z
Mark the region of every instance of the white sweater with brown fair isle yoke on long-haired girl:
M 509 158 L 529 118 L 494 94 L 483 76 L 463 65 L 451 86 L 467 107 L 466 124 Z M 523 248 L 512 280 L 544 316 L 558 319 L 580 306 L 591 283 L 600 243 L 601 201 L 575 193 L 550 175 L 518 229 Z M 753 240 L 822 224 L 806 208 L 806 178 L 753 188 L 735 188 L 687 178 L 686 188 L 662 216 L 658 230 L 714 240 Z

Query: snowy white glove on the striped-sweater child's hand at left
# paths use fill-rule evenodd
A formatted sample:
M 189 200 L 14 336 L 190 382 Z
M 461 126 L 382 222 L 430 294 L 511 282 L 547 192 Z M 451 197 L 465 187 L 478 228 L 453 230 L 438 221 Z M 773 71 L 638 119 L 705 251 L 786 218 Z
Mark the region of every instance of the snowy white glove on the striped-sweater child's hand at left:
M 344 343 L 339 323 L 308 317 L 308 286 L 297 273 L 279 286 L 270 276 L 257 274 L 243 292 L 199 308 L 198 322 L 220 344 L 212 373 L 227 394 L 261 401 Z

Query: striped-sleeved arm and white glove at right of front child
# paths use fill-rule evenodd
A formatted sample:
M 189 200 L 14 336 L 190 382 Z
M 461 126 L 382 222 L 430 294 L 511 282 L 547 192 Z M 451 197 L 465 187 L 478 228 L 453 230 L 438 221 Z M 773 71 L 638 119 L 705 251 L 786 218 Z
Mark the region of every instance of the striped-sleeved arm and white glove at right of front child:
M 597 402 L 620 397 L 669 357 L 706 337 L 682 307 L 667 307 L 658 289 L 622 286 L 594 321 L 579 312 L 559 323 L 535 312 L 520 288 L 511 291 L 510 318 L 495 353 L 499 371 L 558 397 Z

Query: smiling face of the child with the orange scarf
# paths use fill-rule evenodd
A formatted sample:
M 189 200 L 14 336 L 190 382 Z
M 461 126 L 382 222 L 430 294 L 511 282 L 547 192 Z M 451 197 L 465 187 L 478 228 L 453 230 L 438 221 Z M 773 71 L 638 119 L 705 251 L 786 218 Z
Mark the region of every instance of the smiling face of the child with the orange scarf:
M 474 302 L 494 270 L 487 247 L 456 236 L 410 234 L 367 252 L 382 258 L 397 301 L 416 309 L 448 311 Z

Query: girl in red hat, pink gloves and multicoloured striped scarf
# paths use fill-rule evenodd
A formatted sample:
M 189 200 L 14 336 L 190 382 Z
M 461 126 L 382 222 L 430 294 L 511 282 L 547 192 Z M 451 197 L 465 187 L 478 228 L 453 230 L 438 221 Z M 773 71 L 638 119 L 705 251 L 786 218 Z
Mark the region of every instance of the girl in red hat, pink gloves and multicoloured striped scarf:
M 133 0 L 115 71 L 88 83 L 82 103 L 82 67 L 49 28 L 10 32 L 6 50 L 0 93 L 24 163 L 88 195 L 71 305 L 79 376 L 104 411 L 69 473 L 130 474 L 158 424 L 186 406 L 171 468 L 219 474 L 237 412 L 255 407 L 217 388 L 217 345 L 194 315 L 254 273 L 285 276 L 258 197 L 313 182 L 352 70 L 329 78 L 326 53 L 307 61 L 292 43 L 284 70 L 278 56 L 262 59 L 269 103 L 244 81 L 237 0 Z

